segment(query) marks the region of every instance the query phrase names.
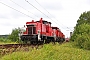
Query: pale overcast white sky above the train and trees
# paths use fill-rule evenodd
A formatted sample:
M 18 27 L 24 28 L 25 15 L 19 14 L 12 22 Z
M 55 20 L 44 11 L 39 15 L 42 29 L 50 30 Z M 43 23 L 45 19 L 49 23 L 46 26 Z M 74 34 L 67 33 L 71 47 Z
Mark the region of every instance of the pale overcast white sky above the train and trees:
M 90 0 L 27 1 L 37 9 L 25 0 L 0 0 L 0 35 L 10 34 L 12 29 L 23 27 L 26 22 L 42 17 L 69 37 L 69 32 L 73 31 L 80 14 L 90 10 Z

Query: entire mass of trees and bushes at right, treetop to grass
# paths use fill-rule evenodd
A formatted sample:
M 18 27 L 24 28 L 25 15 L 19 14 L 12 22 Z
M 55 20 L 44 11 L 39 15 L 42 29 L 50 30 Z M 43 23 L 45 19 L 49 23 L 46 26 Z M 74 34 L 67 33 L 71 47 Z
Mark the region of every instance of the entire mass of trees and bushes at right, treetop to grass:
M 74 41 L 75 45 L 80 48 L 90 50 L 90 11 L 80 15 L 71 41 Z

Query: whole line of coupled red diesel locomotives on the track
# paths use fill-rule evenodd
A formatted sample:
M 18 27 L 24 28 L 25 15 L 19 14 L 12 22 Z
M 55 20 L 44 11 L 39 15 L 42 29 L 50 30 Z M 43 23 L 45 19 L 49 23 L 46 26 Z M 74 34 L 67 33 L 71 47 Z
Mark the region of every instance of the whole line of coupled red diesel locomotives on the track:
M 33 43 L 50 43 L 50 42 L 63 42 L 65 35 L 58 27 L 51 27 L 51 22 L 42 20 L 32 20 L 26 22 L 26 31 L 21 35 L 21 40 L 24 42 L 30 41 Z

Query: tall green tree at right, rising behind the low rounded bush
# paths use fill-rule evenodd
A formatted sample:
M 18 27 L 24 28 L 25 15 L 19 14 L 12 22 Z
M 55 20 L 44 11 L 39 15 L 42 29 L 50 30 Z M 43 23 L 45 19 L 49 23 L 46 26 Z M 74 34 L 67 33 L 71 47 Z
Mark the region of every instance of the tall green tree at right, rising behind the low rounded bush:
M 74 28 L 73 36 L 71 37 L 72 41 L 74 41 L 75 38 L 77 38 L 78 34 L 82 34 L 82 31 L 85 32 L 85 30 L 88 28 L 86 26 L 87 24 L 90 25 L 90 11 L 83 12 L 83 14 L 80 15 L 79 19 L 77 20 L 77 24 Z

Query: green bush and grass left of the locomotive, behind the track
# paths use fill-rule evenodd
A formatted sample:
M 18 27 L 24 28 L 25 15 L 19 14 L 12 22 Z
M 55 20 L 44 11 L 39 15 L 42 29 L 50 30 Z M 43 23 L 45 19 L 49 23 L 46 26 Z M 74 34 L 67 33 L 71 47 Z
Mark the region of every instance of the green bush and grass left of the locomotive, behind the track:
M 10 43 L 10 42 L 22 43 L 22 41 L 19 39 L 20 32 L 21 32 L 21 28 L 15 28 L 12 30 L 11 34 L 8 35 L 7 38 L 0 37 L 0 42 L 1 43 Z

